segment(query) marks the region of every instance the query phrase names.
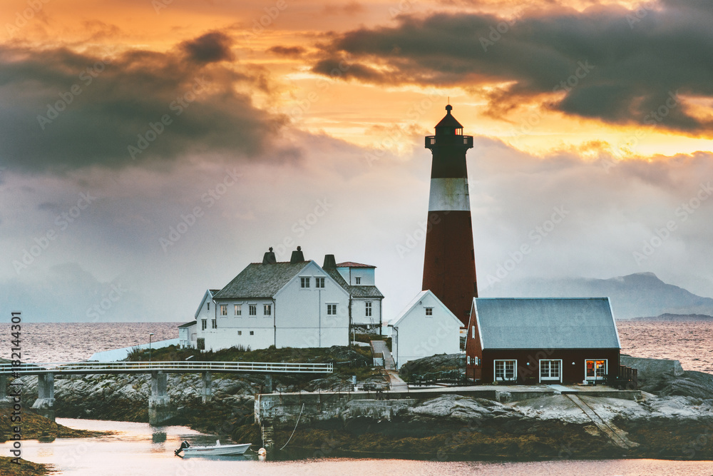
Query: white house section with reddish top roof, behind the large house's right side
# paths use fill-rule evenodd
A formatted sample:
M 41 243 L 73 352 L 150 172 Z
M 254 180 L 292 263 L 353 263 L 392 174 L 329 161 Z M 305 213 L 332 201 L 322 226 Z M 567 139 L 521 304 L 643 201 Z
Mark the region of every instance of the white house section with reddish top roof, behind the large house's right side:
M 322 268 L 349 293 L 352 325 L 362 330 L 380 332 L 381 301 L 384 295 L 376 288 L 376 266 L 352 261 L 337 264 L 334 255 L 326 255 Z

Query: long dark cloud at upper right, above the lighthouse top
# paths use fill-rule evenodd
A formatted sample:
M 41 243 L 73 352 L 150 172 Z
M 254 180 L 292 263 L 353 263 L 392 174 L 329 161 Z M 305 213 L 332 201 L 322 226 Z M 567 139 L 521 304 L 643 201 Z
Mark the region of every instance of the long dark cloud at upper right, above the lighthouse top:
M 314 71 L 330 74 L 347 54 L 344 79 L 473 87 L 511 81 L 491 93 L 498 114 L 543 93 L 565 91 L 554 108 L 610 123 L 657 123 L 713 131 L 672 97 L 713 96 L 713 8 L 666 0 L 638 11 L 620 6 L 559 8 L 514 21 L 489 14 L 402 16 L 394 27 L 335 34 Z M 499 31 L 498 31 L 499 30 Z M 660 108 L 659 120 L 652 111 Z

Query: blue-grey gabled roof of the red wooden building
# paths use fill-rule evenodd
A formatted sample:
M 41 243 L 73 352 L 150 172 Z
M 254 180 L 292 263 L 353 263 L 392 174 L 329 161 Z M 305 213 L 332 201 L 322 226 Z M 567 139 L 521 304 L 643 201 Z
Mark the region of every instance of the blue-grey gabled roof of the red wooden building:
M 609 298 L 475 298 L 483 349 L 621 348 Z

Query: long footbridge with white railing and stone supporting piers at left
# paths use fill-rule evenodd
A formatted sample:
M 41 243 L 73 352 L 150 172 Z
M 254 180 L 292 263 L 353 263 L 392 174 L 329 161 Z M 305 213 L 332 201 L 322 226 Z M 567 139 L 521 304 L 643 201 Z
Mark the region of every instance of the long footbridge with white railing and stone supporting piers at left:
M 152 425 L 160 425 L 173 416 L 170 409 L 170 397 L 167 393 L 167 375 L 169 373 L 202 374 L 202 400 L 207 402 L 212 395 L 212 373 L 262 373 L 267 374 L 269 386 L 272 386 L 272 374 L 291 373 L 332 373 L 331 363 L 281 363 L 281 362 L 60 362 L 60 363 L 21 363 L 0 364 L 0 398 L 13 398 L 7 392 L 7 378 L 23 375 L 37 375 L 37 393 L 33 408 L 46 417 L 54 419 L 54 376 L 55 375 L 92 375 L 150 373 L 151 395 L 148 398 L 148 419 Z

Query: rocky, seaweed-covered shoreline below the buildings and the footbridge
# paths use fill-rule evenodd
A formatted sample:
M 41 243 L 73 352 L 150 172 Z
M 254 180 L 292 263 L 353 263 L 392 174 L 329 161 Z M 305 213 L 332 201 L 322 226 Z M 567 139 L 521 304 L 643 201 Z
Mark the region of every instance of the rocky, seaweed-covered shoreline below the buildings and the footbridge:
M 26 394 L 34 395 L 36 378 L 24 379 Z M 308 387 L 326 389 L 341 383 L 342 376 L 333 375 L 313 380 Z M 215 378 L 212 400 L 203 404 L 199 375 L 170 375 L 168 392 L 176 412 L 168 423 L 260 447 L 254 395 L 265 384 L 261 376 Z M 295 390 L 289 378 L 277 378 L 275 384 L 283 392 Z M 56 378 L 55 385 L 58 417 L 148 420 L 147 375 Z M 601 417 L 605 429 L 620 432 L 625 445 L 612 442 L 602 425 L 597 427 L 568 395 L 505 403 L 443 395 L 403 405 L 388 417 L 367 417 L 345 407 L 331 420 L 303 421 L 288 450 L 302 448 L 303 454 L 317 456 L 368 453 L 429 460 L 713 459 L 713 375 L 642 372 L 640 388 L 640 401 L 580 397 Z M 294 423 L 275 427 L 275 447 L 284 445 L 293 429 Z

